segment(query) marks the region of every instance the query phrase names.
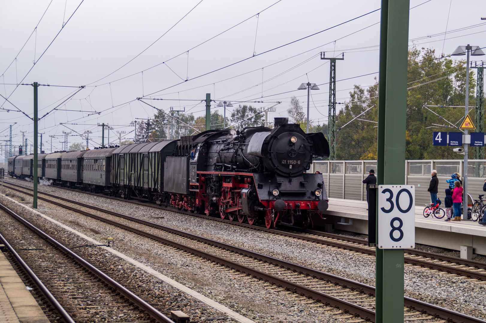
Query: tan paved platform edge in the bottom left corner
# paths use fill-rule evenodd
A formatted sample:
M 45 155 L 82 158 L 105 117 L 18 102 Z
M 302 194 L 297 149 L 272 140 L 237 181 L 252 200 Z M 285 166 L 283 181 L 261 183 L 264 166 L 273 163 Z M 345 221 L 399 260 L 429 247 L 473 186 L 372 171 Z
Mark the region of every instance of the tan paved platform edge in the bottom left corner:
M 0 322 L 49 323 L 3 252 L 0 252 Z

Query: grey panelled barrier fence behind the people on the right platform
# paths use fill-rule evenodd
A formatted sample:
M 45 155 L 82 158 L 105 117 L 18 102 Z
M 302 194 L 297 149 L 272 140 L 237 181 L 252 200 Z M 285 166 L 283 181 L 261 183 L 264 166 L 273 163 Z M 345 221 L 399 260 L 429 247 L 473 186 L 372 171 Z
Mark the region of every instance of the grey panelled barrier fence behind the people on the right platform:
M 405 161 L 405 184 L 415 185 L 416 205 L 430 203 L 430 194 L 427 192 L 430 183 L 430 173 L 437 171 L 439 179 L 439 193 L 437 197 L 444 201 L 445 190 L 449 188 L 446 183 L 451 179 L 452 173 L 462 176 L 462 160 L 424 160 Z M 366 200 L 366 187 L 363 179 L 373 169 L 377 174 L 376 161 L 314 161 L 312 172 L 321 172 L 330 198 L 344 198 L 350 200 Z M 483 192 L 486 179 L 486 160 L 468 161 L 468 193 L 473 199 Z M 462 180 L 462 177 L 461 177 Z

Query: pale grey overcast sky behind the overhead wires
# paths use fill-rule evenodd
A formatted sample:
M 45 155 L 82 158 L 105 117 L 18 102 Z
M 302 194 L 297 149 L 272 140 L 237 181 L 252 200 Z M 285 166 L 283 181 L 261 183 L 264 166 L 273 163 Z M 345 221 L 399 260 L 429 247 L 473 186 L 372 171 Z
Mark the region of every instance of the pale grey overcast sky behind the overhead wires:
M 293 96 L 307 107 L 307 91 L 297 87 L 310 81 L 320 87 L 311 91 L 310 118 L 326 123 L 329 61 L 320 52 L 345 53 L 336 67 L 338 102 L 348 100 L 354 84 L 372 85 L 380 6 L 377 0 L 0 0 L 0 94 L 11 102 L 0 97 L 1 109 L 11 110 L 0 110 L 0 139 L 8 140 L 12 124 L 16 151 L 20 131 L 33 143 L 32 120 L 17 112 L 33 117 L 33 87 L 17 86 L 33 82 L 51 85 L 38 89 L 46 152 L 49 136 L 57 136 L 52 150 L 62 148 L 63 131 L 72 144 L 86 143 L 79 134 L 91 130 L 89 146 L 101 145 L 98 123 L 114 128 L 110 142 L 118 141 L 117 131 L 133 139 L 130 122 L 156 113 L 138 97 L 166 112 L 174 107 L 196 116 L 205 113 L 206 93 L 235 106 L 280 101 L 269 113 L 272 120 L 287 116 Z M 484 0 L 411 0 L 410 8 L 410 46 L 437 54 L 486 46 Z M 79 86 L 86 87 L 72 96 Z

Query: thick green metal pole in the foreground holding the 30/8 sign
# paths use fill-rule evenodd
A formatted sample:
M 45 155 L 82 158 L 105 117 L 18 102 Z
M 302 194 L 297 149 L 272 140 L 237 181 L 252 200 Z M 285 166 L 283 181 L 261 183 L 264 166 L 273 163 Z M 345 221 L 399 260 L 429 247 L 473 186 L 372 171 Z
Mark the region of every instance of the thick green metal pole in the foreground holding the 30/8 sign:
M 378 185 L 404 184 L 409 1 L 382 0 L 381 15 Z M 376 248 L 376 323 L 404 322 L 403 273 L 403 249 Z

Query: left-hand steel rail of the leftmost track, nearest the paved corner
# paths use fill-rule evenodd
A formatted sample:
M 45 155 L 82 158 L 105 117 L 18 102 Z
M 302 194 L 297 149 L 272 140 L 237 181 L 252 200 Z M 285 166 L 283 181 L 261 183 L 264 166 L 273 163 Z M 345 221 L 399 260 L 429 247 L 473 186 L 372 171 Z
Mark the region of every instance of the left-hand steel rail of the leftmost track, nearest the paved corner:
M 3 209 L 3 205 L 0 203 L 0 208 Z M 5 209 L 3 209 L 5 210 Z M 52 295 L 51 291 L 42 283 L 42 281 L 35 275 L 35 273 L 30 269 L 29 265 L 27 265 L 20 257 L 20 255 L 15 251 L 15 249 L 10 245 L 10 243 L 0 234 L 0 241 L 5 245 L 5 247 L 10 251 L 12 257 L 14 257 L 15 261 L 17 261 L 18 265 L 22 268 L 22 270 L 29 276 L 29 279 L 32 280 L 35 287 L 44 295 L 46 301 L 54 308 L 59 316 L 61 317 L 61 321 L 65 323 L 76 323 L 69 313 L 66 311 L 64 307 L 57 301 L 57 299 Z

